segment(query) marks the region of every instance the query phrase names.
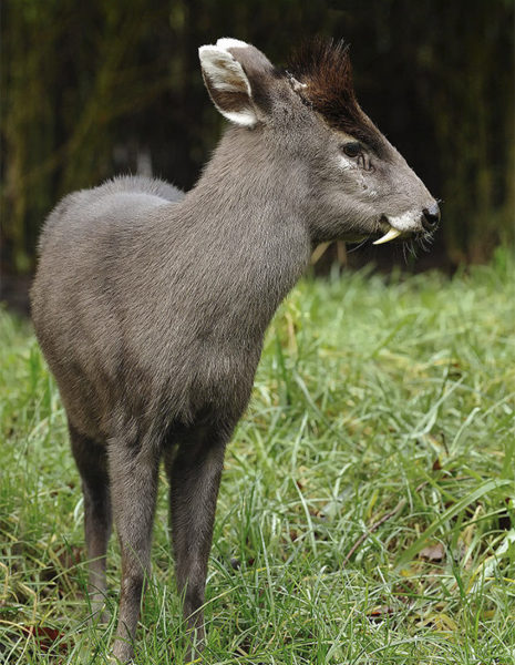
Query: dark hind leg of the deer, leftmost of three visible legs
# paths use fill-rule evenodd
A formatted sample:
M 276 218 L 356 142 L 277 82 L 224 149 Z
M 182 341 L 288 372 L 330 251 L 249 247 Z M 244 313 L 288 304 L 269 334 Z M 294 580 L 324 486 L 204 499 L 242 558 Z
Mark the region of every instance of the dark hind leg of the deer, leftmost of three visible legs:
M 69 423 L 70 441 L 82 480 L 92 620 L 106 621 L 105 564 L 111 535 L 111 492 L 105 446 L 81 434 Z

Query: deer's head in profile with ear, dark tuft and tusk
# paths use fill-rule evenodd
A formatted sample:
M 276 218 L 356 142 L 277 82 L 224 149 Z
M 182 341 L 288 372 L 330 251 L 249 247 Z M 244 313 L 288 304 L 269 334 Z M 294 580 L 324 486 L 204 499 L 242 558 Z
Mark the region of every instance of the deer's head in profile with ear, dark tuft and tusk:
M 313 41 L 275 68 L 234 39 L 199 49 L 213 102 L 291 172 L 313 242 L 428 238 L 436 201 L 359 106 L 348 49 Z

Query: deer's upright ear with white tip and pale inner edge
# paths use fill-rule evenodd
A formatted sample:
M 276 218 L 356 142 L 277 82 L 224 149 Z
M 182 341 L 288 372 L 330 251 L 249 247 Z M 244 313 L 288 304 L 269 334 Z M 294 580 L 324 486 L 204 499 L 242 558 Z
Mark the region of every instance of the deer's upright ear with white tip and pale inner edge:
M 258 122 L 250 81 L 228 49 L 253 48 L 236 39 L 219 39 L 215 45 L 200 47 L 202 73 L 218 111 L 231 122 L 251 127 Z

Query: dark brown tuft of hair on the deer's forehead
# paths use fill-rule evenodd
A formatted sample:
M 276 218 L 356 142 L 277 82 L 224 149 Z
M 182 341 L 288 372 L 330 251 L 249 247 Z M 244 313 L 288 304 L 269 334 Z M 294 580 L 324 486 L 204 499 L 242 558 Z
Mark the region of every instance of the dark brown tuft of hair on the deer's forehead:
M 380 134 L 356 99 L 349 47 L 343 40 L 317 38 L 302 44 L 290 58 L 287 73 L 306 84 L 298 91 L 300 96 L 331 127 L 380 150 Z

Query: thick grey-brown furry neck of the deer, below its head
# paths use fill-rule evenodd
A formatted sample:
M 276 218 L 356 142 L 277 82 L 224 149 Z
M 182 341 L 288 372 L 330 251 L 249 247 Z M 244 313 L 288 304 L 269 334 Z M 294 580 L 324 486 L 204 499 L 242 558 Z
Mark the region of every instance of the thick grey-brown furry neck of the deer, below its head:
M 266 324 L 311 252 L 302 173 L 277 153 L 258 130 L 229 129 L 182 204 L 208 247 L 214 282 Z

